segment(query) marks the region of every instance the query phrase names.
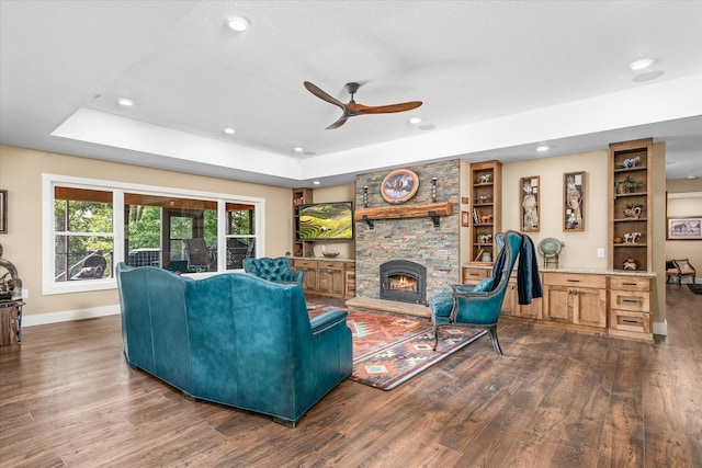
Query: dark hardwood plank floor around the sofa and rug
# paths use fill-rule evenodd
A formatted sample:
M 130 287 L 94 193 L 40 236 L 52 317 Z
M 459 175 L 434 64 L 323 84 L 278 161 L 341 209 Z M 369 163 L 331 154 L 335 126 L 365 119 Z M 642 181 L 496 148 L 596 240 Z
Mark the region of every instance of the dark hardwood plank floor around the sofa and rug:
M 26 328 L 0 346 L 0 466 L 702 467 L 702 296 L 667 288 L 654 344 L 502 321 L 503 356 L 347 380 L 295 429 L 128 368 L 118 317 Z

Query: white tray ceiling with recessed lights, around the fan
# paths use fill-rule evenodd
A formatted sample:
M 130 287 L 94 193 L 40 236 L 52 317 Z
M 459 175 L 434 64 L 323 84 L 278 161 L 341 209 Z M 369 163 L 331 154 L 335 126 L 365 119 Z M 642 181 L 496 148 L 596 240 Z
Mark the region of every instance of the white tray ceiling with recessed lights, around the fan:
M 423 105 L 326 130 L 305 80 Z M 0 0 L 5 145 L 292 187 L 644 137 L 702 176 L 702 2 Z

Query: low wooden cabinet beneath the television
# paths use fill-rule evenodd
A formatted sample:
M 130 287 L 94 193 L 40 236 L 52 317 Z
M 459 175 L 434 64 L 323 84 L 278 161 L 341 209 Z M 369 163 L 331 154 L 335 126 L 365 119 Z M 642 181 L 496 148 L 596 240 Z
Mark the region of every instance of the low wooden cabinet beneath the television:
M 293 267 L 305 272 L 305 293 L 339 298 L 355 296 L 353 260 L 293 259 Z M 352 285 L 347 283 L 351 278 Z

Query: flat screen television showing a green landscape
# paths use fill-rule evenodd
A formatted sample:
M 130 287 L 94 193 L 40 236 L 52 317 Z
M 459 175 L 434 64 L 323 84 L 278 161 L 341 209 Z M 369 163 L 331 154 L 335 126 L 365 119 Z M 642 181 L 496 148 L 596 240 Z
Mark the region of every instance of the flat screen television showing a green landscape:
M 351 202 L 312 203 L 297 207 L 297 240 L 353 239 Z

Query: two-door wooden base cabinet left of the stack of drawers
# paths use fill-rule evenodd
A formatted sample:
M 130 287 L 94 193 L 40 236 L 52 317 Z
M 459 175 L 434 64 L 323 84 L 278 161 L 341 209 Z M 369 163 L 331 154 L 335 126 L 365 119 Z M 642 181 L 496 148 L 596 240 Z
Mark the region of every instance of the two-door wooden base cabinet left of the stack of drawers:
M 545 320 L 607 328 L 607 277 L 577 273 L 544 273 Z

